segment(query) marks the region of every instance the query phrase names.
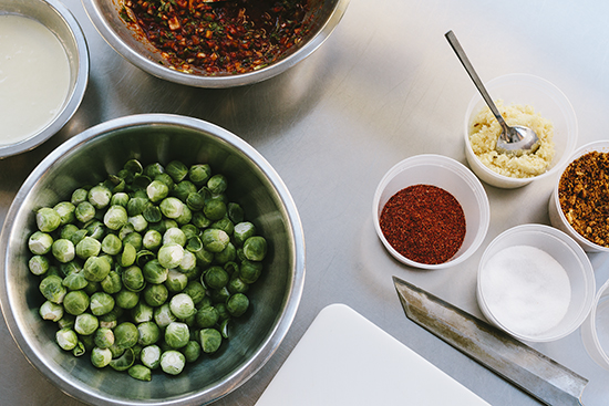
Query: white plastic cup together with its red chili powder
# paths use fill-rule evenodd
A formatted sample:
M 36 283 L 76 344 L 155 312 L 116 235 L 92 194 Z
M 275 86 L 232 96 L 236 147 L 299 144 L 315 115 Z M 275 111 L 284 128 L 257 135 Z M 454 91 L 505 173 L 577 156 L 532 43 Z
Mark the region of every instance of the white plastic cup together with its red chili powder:
M 373 200 L 376 235 L 400 262 L 424 269 L 455 266 L 486 236 L 491 209 L 478 178 L 463 164 L 433 154 L 393 166 Z

